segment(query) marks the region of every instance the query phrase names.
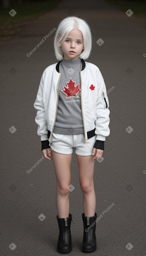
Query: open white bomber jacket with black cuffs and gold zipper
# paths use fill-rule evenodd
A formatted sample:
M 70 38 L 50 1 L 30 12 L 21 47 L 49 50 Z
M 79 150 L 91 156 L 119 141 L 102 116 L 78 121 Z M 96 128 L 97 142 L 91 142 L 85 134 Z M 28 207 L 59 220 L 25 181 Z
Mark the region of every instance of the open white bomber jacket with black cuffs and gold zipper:
M 79 75 L 84 143 L 96 135 L 93 147 L 104 150 L 104 141 L 110 133 L 108 127 L 110 111 L 106 85 L 99 68 L 90 62 L 81 60 Z M 34 102 L 34 108 L 37 110 L 35 118 L 38 125 L 37 134 L 43 145 L 41 150 L 50 148 L 52 141 L 59 98 L 60 62 L 52 64 L 44 70 Z

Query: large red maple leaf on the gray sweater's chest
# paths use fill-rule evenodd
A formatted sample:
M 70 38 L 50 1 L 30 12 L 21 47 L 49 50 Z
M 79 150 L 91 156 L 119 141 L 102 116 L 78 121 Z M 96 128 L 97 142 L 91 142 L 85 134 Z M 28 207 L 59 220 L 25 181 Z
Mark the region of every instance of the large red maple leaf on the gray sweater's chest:
M 66 98 L 69 98 L 71 96 L 73 97 L 78 97 L 77 96 L 77 93 L 80 91 L 79 89 L 79 84 L 76 84 L 76 81 L 72 81 L 71 77 L 70 77 L 70 80 L 69 82 L 66 82 L 67 83 L 67 86 L 63 86 L 63 90 L 61 90 L 63 93 L 65 93 L 67 95 Z M 78 97 L 79 98 L 79 97 Z

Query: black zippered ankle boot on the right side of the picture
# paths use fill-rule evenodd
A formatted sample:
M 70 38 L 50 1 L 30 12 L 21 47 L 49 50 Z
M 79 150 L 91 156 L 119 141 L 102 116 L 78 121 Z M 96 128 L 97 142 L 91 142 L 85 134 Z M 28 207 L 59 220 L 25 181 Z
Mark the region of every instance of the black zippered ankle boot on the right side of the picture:
M 97 221 L 97 213 L 93 217 L 85 217 L 85 214 L 82 213 L 83 224 L 84 224 L 84 235 L 83 235 L 83 252 L 84 253 L 92 253 L 97 248 L 96 245 L 96 223 Z M 92 223 L 94 224 L 92 226 Z

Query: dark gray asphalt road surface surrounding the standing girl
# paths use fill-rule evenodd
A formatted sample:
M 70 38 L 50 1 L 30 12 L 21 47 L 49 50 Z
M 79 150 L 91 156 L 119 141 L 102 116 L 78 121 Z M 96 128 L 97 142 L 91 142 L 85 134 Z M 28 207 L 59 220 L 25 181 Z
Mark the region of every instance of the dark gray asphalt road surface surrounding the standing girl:
M 43 157 L 33 104 L 44 69 L 57 62 L 53 34 L 27 54 L 70 14 L 84 17 L 92 26 L 94 47 L 86 61 L 99 67 L 109 91 L 110 135 L 104 159 L 95 160 L 94 168 L 96 212 L 102 217 L 92 255 L 146 255 L 146 18 L 129 9 L 123 12 L 102 0 L 63 1 L 26 22 L 9 40 L 1 39 L 0 255 L 60 255 L 53 161 L 40 160 L 27 173 Z M 101 46 L 99 38 L 104 41 Z M 70 255 L 83 255 L 83 195 L 75 149 L 71 184 L 75 189 L 69 195 L 74 220 Z

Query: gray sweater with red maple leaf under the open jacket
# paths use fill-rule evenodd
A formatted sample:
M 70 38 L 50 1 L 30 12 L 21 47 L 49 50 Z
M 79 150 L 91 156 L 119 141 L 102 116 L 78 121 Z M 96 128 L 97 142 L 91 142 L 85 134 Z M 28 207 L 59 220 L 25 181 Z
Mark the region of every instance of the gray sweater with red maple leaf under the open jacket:
M 81 59 L 63 60 L 60 63 L 61 78 L 58 85 L 59 99 L 53 133 L 84 133 L 80 100 Z

